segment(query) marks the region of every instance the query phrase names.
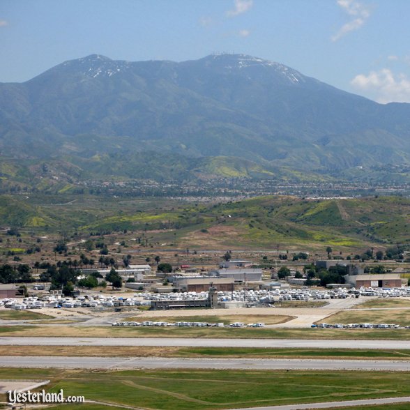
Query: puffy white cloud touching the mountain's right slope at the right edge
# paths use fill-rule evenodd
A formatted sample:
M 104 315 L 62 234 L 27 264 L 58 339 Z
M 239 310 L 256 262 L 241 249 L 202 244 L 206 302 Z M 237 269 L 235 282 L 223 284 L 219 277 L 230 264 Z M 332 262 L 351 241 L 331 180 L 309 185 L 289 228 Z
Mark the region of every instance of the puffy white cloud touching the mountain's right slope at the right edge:
M 410 102 L 410 79 L 403 73 L 395 75 L 388 68 L 371 71 L 367 76 L 356 75 L 351 85 L 372 94 L 377 102 Z

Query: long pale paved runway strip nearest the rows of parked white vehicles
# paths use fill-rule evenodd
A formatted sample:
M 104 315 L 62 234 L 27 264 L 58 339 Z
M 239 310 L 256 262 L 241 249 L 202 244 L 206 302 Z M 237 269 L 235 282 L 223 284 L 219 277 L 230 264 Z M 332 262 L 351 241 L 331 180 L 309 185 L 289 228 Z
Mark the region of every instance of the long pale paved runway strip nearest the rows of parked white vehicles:
M 320 329 L 318 331 L 320 332 Z M 380 332 L 382 335 L 383 330 Z M 189 337 L 0 337 L 0 346 L 8 345 L 410 349 L 409 340 L 195 339 Z

